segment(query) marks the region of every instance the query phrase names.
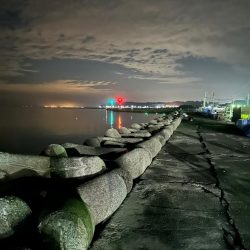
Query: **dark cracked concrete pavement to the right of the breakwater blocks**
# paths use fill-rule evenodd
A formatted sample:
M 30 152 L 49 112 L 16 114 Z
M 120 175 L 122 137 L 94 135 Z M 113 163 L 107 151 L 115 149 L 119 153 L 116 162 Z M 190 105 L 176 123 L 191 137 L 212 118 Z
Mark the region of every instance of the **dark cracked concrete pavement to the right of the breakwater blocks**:
M 90 249 L 250 249 L 250 140 L 203 125 L 180 125 Z

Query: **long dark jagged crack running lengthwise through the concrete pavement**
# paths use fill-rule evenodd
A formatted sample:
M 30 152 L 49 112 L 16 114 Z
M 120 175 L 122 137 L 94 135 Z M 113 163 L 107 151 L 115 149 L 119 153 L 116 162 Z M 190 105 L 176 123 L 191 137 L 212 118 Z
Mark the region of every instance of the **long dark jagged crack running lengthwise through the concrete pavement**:
M 244 250 L 246 248 L 243 245 L 243 241 L 242 241 L 240 232 L 235 225 L 234 219 L 230 215 L 230 212 L 229 212 L 230 204 L 227 201 L 227 199 L 225 197 L 224 190 L 220 185 L 220 180 L 219 180 L 219 177 L 217 175 L 217 171 L 215 169 L 215 164 L 211 161 L 211 152 L 207 148 L 206 143 L 201 135 L 200 126 L 197 126 L 197 134 L 199 136 L 199 141 L 202 144 L 202 147 L 206 151 L 206 154 L 204 154 L 204 158 L 207 160 L 207 162 L 210 166 L 211 174 L 215 178 L 215 181 L 216 181 L 215 188 L 218 188 L 220 190 L 220 195 L 219 196 L 216 195 L 216 197 L 219 198 L 220 203 L 221 203 L 222 207 L 224 208 L 226 221 L 227 221 L 229 227 L 231 228 L 231 230 L 226 229 L 226 228 L 222 228 L 224 240 L 226 241 L 226 244 L 229 247 L 229 249 Z M 214 194 L 210 190 L 204 189 L 204 191 L 208 191 L 208 192 Z

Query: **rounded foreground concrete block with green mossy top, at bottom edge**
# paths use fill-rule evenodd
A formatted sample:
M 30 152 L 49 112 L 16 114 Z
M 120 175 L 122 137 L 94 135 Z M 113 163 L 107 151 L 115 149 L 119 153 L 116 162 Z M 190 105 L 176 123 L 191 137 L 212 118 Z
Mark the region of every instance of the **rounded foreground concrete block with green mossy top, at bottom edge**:
M 94 235 L 93 217 L 82 200 L 67 199 L 38 226 L 46 249 L 85 250 Z

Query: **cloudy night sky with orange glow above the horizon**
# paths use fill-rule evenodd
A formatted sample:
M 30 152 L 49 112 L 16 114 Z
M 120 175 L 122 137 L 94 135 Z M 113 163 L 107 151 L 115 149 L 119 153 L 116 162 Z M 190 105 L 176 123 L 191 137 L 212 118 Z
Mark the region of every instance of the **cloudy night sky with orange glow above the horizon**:
M 242 98 L 249 0 L 3 0 L 0 103 Z

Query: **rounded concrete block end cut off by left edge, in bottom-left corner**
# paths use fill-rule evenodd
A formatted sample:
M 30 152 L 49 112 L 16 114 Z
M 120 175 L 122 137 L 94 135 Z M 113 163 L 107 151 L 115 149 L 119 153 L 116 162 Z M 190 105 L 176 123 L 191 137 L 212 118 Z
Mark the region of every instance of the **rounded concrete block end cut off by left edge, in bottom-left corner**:
M 13 235 L 31 215 L 30 207 L 20 198 L 0 198 L 0 239 Z

